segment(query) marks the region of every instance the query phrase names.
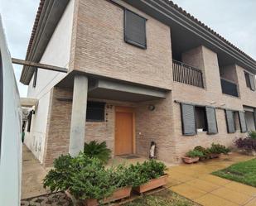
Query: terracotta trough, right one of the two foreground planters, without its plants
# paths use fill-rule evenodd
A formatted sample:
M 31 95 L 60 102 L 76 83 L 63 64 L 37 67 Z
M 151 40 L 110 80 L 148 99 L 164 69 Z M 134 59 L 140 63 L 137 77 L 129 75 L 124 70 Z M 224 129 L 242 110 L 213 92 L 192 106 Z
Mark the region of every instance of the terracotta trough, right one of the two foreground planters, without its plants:
M 168 175 L 163 175 L 157 179 L 149 180 L 146 184 L 142 184 L 142 185 L 138 186 L 137 188 L 134 188 L 133 190 L 138 192 L 139 194 L 142 194 L 151 189 L 159 188 L 159 187 L 167 184 L 167 177 L 168 177 Z

